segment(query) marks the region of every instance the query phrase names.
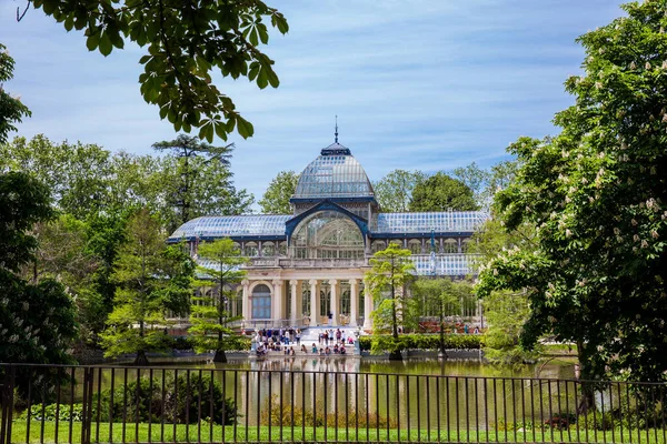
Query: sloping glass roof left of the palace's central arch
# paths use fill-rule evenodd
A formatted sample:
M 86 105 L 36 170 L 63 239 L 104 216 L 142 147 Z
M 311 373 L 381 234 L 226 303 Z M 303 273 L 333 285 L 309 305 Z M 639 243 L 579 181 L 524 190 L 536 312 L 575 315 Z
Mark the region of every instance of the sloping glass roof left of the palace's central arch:
M 226 238 L 243 235 L 285 235 L 285 222 L 289 214 L 258 215 L 210 215 L 183 223 L 170 236 L 170 241 L 182 238 Z

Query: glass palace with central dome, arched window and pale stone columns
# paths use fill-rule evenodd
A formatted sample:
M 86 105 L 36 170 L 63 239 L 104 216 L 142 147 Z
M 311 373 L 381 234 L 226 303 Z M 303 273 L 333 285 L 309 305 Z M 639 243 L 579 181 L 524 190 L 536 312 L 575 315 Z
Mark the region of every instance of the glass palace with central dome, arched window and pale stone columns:
M 397 242 L 412 253 L 417 274 L 462 278 L 472 274 L 467 244 L 487 219 L 477 211 L 382 213 L 364 168 L 338 142 L 306 167 L 290 203 L 292 214 L 197 218 L 169 238 L 185 240 L 195 258 L 200 242 L 238 244 L 247 276 L 228 303 L 247 327 L 326 325 L 331 317 L 369 329 L 364 274 L 375 252 Z

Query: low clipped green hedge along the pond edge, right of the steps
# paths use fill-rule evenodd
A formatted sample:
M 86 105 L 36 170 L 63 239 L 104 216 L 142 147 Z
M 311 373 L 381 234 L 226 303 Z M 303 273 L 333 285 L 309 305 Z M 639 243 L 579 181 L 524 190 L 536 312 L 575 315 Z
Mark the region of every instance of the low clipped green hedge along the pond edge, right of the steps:
M 375 343 L 375 344 L 374 344 Z M 375 345 L 375 346 L 374 346 Z M 440 350 L 439 334 L 401 334 L 398 343 L 390 335 L 361 336 L 359 346 L 362 351 L 371 349 L 390 352 L 392 350 Z M 484 346 L 484 336 L 479 334 L 446 334 L 446 350 L 479 350 Z

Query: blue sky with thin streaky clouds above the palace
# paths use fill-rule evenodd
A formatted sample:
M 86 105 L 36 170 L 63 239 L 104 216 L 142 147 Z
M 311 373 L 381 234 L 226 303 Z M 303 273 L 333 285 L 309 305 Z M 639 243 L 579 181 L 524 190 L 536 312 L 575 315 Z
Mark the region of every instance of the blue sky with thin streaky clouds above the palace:
M 255 125 L 253 138 L 232 137 L 232 170 L 258 200 L 279 171 L 301 171 L 334 141 L 335 114 L 371 180 L 506 159 L 518 137 L 557 131 L 554 113 L 573 103 L 563 82 L 584 58 L 575 39 L 621 14 L 616 0 L 267 2 L 290 23 L 266 48 L 280 87 L 217 82 Z M 41 11 L 17 23 L 23 6 L 0 2 L 0 42 L 17 62 L 6 89 L 33 112 L 21 135 L 133 153 L 175 138 L 139 93 L 141 49 L 88 52 Z

